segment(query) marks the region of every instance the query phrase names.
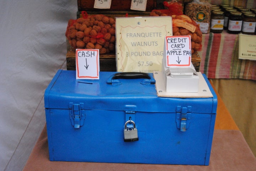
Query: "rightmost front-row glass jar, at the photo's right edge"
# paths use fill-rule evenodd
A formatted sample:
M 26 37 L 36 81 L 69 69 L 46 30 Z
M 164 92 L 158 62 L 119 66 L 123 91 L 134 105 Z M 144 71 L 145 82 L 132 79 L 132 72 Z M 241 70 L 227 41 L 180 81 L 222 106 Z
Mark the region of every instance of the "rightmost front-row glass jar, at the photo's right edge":
M 254 34 L 256 27 L 256 18 L 254 13 L 244 13 L 242 21 L 242 33 L 243 34 Z

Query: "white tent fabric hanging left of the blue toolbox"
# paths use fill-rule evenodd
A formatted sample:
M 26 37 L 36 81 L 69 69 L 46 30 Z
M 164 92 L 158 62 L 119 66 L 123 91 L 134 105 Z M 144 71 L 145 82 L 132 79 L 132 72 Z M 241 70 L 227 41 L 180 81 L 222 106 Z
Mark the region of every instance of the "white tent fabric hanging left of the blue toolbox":
M 0 0 L 0 170 L 23 169 L 45 125 L 44 90 L 66 69 L 76 0 Z

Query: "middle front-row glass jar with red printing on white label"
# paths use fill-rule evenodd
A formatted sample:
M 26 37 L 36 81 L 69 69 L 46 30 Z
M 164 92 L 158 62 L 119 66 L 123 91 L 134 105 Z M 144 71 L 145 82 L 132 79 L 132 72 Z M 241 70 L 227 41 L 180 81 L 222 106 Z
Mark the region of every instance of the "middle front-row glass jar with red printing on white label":
M 228 33 L 239 34 L 242 29 L 242 13 L 238 11 L 230 12 Z

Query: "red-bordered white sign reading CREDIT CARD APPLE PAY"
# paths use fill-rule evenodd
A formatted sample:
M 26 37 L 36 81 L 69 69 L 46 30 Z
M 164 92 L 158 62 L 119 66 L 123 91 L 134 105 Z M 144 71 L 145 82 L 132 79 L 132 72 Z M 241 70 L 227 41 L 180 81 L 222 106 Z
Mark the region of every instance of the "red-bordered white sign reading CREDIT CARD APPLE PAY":
M 165 37 L 166 67 L 191 65 L 191 37 L 166 36 Z

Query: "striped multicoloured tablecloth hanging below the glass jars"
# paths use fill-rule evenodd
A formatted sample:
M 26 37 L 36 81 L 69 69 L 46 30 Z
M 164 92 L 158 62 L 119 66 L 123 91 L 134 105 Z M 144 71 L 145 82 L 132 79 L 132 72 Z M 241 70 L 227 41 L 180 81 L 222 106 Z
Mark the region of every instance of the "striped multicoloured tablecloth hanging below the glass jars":
M 238 49 L 238 34 L 203 34 L 200 71 L 208 78 L 256 80 L 256 61 L 238 59 Z

